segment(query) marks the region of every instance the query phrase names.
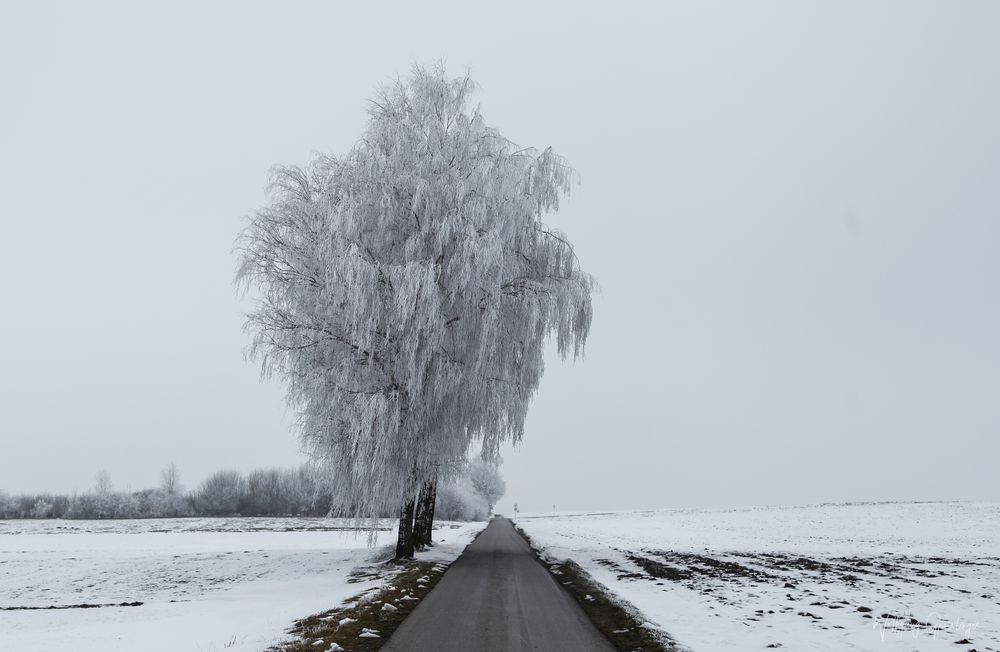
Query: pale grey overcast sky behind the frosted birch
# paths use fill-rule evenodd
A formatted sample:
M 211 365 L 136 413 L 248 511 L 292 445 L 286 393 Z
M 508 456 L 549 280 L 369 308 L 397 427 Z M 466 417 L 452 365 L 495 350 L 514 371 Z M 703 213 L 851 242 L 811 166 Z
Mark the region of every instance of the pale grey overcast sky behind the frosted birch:
M 233 239 L 443 58 L 602 285 L 502 509 L 1000 500 L 1000 4 L 478 7 L 4 2 L 0 489 L 301 461 Z

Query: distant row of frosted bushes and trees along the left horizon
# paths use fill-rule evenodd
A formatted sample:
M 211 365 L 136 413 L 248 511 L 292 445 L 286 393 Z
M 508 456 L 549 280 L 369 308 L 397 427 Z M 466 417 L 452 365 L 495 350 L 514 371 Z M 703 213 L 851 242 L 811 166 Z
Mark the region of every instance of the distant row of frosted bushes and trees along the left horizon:
M 185 491 L 177 466 L 160 474 L 160 486 L 116 491 L 107 472 L 93 489 L 73 494 L 0 492 L 0 519 L 176 518 L 185 516 L 325 516 L 331 495 L 309 467 L 218 471 Z

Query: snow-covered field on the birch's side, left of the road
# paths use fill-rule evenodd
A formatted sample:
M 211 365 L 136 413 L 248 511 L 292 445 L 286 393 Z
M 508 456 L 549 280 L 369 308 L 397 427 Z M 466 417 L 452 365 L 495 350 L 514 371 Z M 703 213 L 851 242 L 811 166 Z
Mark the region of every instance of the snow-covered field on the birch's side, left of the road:
M 285 518 L 0 521 L 0 650 L 262 650 L 295 619 L 380 585 L 349 576 L 385 558 L 395 532 L 378 532 L 372 549 L 347 526 Z M 441 524 L 434 538 L 444 542 L 426 558 L 454 560 L 484 526 Z M 133 602 L 142 605 L 78 606 Z

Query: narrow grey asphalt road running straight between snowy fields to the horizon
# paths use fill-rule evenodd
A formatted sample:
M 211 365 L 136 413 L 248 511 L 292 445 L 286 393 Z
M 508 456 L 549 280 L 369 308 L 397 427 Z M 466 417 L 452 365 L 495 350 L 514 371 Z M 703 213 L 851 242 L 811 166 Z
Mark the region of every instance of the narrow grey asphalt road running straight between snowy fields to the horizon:
M 495 518 L 383 652 L 614 652 L 510 521 Z

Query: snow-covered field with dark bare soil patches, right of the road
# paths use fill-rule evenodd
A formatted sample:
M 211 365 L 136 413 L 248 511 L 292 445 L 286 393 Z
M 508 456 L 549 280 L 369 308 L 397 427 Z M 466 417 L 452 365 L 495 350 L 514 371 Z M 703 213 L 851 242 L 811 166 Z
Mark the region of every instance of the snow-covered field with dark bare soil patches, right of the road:
M 1000 650 L 998 504 L 664 510 L 517 523 L 547 556 L 577 561 L 696 652 Z

